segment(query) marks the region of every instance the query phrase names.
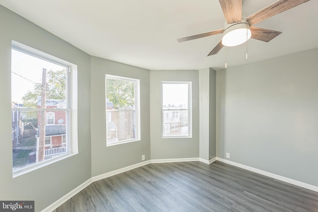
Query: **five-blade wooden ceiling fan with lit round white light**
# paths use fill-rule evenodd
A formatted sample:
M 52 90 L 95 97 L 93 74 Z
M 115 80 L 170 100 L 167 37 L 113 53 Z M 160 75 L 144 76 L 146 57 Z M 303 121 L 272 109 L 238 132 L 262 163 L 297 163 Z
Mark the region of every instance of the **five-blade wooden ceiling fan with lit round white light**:
M 225 28 L 187 37 L 181 37 L 178 38 L 177 41 L 180 43 L 223 33 L 222 40 L 220 40 L 220 42 L 214 47 L 208 56 L 217 54 L 223 46 L 237 46 L 246 42 L 249 38 L 268 42 L 282 32 L 263 29 L 252 25 L 309 0 L 278 0 L 246 18 L 242 18 L 242 0 L 219 1 L 227 22 Z

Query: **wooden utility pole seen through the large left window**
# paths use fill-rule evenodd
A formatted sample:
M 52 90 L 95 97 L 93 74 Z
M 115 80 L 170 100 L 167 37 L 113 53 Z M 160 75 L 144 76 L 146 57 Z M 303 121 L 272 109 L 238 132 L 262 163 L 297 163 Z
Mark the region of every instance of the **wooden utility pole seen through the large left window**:
M 41 109 L 46 108 L 46 69 L 42 71 L 42 95 L 41 95 Z M 44 148 L 45 148 L 45 112 L 40 111 L 40 131 L 39 131 L 39 149 L 38 149 L 38 162 L 44 161 Z

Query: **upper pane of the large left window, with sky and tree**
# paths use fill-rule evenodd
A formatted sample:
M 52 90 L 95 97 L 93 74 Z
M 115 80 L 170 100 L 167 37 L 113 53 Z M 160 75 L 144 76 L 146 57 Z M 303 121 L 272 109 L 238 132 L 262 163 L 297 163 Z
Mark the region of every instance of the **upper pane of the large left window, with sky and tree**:
M 47 105 L 41 102 L 43 95 Z M 23 107 L 49 108 L 57 100 L 64 101 L 58 106 L 66 105 L 66 68 L 12 49 L 11 101 Z

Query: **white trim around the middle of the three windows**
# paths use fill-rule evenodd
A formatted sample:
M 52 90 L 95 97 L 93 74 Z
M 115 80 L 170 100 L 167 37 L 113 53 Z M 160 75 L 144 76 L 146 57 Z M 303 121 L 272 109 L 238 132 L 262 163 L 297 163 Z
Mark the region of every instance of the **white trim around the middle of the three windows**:
M 110 79 L 115 79 L 115 80 L 126 80 L 126 81 L 134 81 L 135 84 L 135 111 L 136 111 L 136 125 L 137 125 L 137 136 L 135 139 L 130 139 L 130 140 L 124 140 L 124 141 L 117 141 L 114 143 L 108 143 L 107 142 L 107 136 L 108 136 L 108 131 L 107 131 L 107 106 L 106 106 L 106 78 L 110 78 Z M 121 77 L 121 76 L 115 76 L 115 75 L 105 75 L 105 122 L 106 122 L 106 146 L 114 146 L 114 145 L 118 145 L 118 144 L 123 144 L 123 143 L 130 143 L 130 142 L 135 142 L 135 141 L 140 141 L 141 140 L 141 124 L 140 124 L 140 80 L 139 79 L 135 79 L 135 78 L 128 78 L 128 77 Z

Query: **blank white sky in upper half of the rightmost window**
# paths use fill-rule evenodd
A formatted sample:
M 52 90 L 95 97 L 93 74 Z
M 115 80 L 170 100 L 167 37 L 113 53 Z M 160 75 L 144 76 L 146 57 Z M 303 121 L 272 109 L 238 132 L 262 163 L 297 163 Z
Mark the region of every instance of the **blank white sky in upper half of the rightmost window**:
M 162 84 L 162 105 L 188 106 L 188 84 Z

